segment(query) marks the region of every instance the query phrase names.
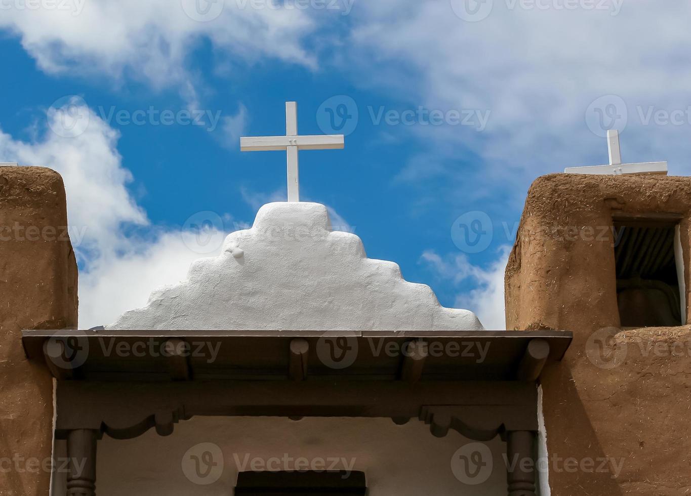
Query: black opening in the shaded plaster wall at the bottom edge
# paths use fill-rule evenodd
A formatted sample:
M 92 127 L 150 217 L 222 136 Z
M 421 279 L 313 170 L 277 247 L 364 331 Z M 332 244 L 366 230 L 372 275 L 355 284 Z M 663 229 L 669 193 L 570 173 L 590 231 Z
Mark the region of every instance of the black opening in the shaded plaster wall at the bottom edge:
M 364 496 L 363 472 L 240 472 L 236 496 Z

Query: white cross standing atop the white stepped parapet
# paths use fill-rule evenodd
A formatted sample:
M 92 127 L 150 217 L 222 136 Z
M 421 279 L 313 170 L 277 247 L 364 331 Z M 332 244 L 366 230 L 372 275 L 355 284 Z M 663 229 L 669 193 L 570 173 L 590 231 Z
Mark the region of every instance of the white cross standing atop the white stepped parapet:
M 300 201 L 298 150 L 342 149 L 344 138 L 338 135 L 298 135 L 298 106 L 285 102 L 285 136 L 241 137 L 240 151 L 285 150 L 288 162 L 288 201 Z

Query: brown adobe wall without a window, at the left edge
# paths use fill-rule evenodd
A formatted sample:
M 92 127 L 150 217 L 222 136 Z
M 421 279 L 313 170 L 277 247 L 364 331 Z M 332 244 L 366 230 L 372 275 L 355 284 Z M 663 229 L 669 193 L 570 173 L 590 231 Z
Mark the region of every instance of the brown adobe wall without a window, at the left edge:
M 77 264 L 65 189 L 44 167 L 0 166 L 0 495 L 47 495 L 53 381 L 23 329 L 77 327 Z

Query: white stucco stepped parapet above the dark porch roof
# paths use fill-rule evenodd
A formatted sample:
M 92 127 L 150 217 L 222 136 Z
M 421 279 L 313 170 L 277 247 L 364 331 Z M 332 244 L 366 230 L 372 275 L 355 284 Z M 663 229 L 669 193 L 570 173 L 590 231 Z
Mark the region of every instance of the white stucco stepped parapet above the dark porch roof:
M 276 202 L 251 229 L 225 239 L 187 280 L 160 287 L 146 307 L 106 329 L 482 330 L 473 312 L 439 305 L 397 264 L 367 258 L 352 233 L 332 231 L 326 207 Z

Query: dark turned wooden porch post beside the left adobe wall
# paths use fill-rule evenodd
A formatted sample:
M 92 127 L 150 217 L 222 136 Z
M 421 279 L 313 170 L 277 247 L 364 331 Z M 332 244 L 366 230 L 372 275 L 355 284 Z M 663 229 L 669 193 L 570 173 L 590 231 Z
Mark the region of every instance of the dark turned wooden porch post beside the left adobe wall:
M 96 495 L 96 439 L 98 431 L 75 429 L 67 435 L 67 496 Z

